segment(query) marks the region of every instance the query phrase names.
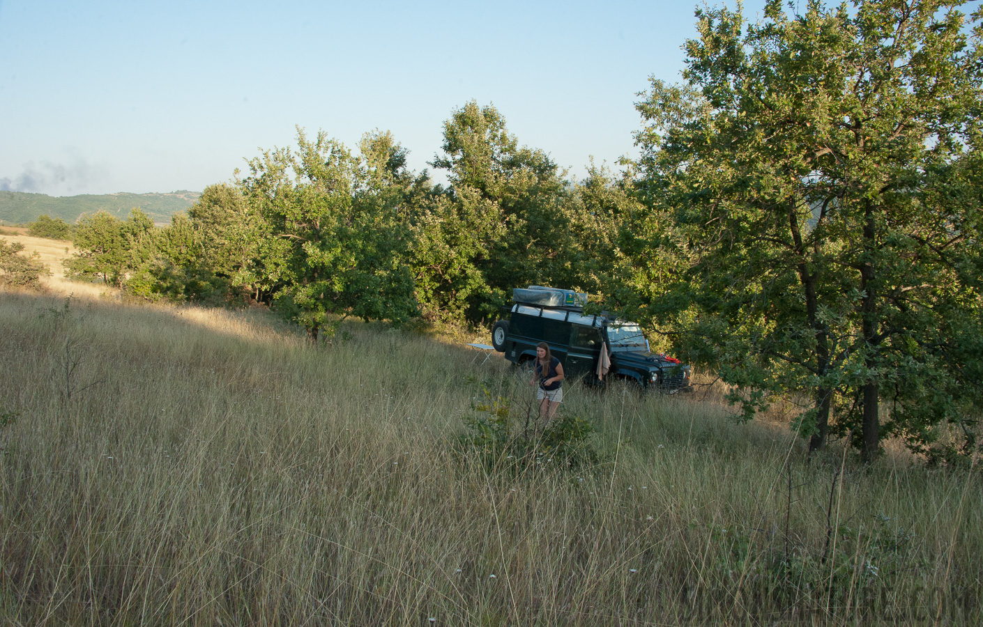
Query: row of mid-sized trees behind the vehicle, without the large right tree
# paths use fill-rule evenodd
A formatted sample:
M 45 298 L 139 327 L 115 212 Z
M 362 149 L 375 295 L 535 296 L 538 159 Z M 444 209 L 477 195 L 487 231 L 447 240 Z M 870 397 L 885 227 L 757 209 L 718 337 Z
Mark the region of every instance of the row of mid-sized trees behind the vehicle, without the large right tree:
M 476 102 L 447 120 L 442 148 L 446 187 L 409 171 L 389 133 L 352 151 L 299 130 L 168 227 L 139 209 L 84 216 L 67 267 L 149 299 L 268 304 L 312 338 L 338 315 L 479 321 L 529 283 L 605 293 L 632 237 L 618 224 L 642 210 L 630 180 L 568 180 Z

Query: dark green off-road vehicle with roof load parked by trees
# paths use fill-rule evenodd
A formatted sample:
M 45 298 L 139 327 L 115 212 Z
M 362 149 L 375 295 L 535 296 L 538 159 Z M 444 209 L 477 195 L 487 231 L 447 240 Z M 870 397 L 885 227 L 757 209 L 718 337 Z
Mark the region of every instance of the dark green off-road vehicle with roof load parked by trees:
M 492 326 L 492 346 L 513 364 L 536 358 L 536 345 L 549 344 L 563 365 L 565 378 L 603 385 L 611 377 L 666 392 L 686 391 L 690 368 L 649 351 L 649 342 L 634 322 L 584 314 L 587 295 L 538 285 L 512 290 L 511 307 L 501 309 Z M 610 367 L 599 376 L 602 351 Z

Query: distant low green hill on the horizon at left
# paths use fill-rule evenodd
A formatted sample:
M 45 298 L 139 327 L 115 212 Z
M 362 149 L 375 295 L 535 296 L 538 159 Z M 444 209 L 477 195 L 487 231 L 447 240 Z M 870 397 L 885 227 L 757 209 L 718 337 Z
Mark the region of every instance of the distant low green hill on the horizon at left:
M 198 192 L 181 190 L 170 194 L 104 194 L 101 196 L 62 196 L 0 192 L 0 221 L 7 224 L 26 224 L 46 213 L 74 223 L 83 213 L 108 211 L 120 219 L 130 215 L 130 209 L 140 207 L 157 224 L 169 224 L 171 216 L 184 211 L 201 196 Z

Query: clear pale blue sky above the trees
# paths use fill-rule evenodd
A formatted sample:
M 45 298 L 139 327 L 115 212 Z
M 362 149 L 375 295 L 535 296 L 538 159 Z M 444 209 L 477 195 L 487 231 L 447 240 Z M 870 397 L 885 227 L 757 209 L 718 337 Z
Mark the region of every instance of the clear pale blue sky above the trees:
M 680 80 L 695 7 L 0 0 L 0 190 L 201 192 L 298 126 L 353 150 L 391 131 L 439 181 L 427 162 L 470 100 L 583 178 L 637 155 L 634 103 Z

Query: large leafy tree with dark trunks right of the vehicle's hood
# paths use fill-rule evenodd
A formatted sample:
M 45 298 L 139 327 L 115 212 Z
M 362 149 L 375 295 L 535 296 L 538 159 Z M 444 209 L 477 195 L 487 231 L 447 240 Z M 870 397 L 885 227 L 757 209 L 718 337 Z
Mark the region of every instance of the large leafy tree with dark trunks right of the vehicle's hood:
M 917 446 L 978 412 L 943 382 L 980 359 L 946 358 L 945 329 L 979 325 L 981 31 L 961 4 L 698 11 L 686 84 L 638 104 L 646 253 L 671 278 L 636 307 L 671 316 L 746 416 L 810 395 L 812 448 L 852 432 L 870 460 L 885 433 Z

